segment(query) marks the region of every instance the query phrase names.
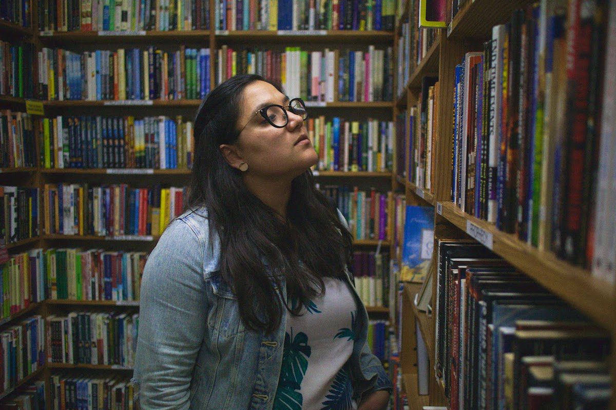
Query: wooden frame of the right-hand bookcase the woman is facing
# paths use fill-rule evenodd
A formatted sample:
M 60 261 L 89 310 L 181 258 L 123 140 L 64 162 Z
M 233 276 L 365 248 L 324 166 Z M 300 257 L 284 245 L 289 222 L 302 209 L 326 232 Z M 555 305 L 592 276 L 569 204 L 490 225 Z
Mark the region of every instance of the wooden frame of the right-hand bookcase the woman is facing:
M 452 1 L 447 1 L 449 5 Z M 403 15 L 397 19 L 395 33 L 401 35 L 400 25 L 410 18 L 413 10 L 413 0 L 405 1 Z M 456 2 L 457 3 L 457 2 Z M 462 3 L 460 1 L 460 3 Z M 608 2 L 609 3 L 609 2 Z M 435 208 L 435 239 L 464 238 L 476 239 L 492 250 L 511 266 L 527 277 L 544 286 L 554 295 L 567 302 L 590 318 L 594 324 L 607 331 L 612 344 L 616 337 L 616 287 L 592 274 L 587 267 L 567 262 L 554 254 L 553 251 L 540 250 L 517 234 L 499 230 L 494 223 L 469 215 L 452 202 L 452 151 L 453 151 L 453 90 L 455 88 L 455 69 L 467 52 L 481 52 L 483 43 L 492 39 L 492 28 L 505 24 L 511 18 L 514 10 L 533 4 L 525 0 L 474 0 L 466 1 L 453 18 L 448 18 L 447 28 L 440 29 L 436 42 L 428 49 L 421 62 L 410 66 L 409 81 L 403 93 L 397 96 L 394 107 L 395 114 L 406 112 L 407 108 L 416 104 L 421 95 L 421 79 L 425 76 L 438 77 L 439 107 L 436 124 L 436 148 L 432 151 L 432 160 L 436 163 L 436 175 L 433 175 L 432 189 L 427 190 L 416 186 L 404 176 L 396 175 L 394 179 L 405 187 L 407 204 L 432 205 Z M 399 42 L 397 42 L 399 44 Z M 608 74 L 609 75 L 609 74 Z M 408 121 L 408 117 L 407 117 Z M 405 146 L 409 134 L 405 135 Z M 407 167 L 408 170 L 408 167 Z M 436 261 L 436 245 L 433 258 Z M 436 268 L 432 272 L 436 275 Z M 413 286 L 406 286 L 402 297 L 402 333 L 413 339 L 415 329 L 412 323 L 418 323 L 421 334 L 426 342 L 430 360 L 429 395 L 417 398 L 417 377 L 413 373 L 413 363 L 402 360 L 403 388 L 411 404 L 414 400 L 428 401 L 423 405 L 448 406 L 445 397 L 445 387 L 434 376 L 435 357 L 435 324 L 436 317 L 430 313 L 419 312 L 413 303 L 418 292 Z M 432 288 L 432 306 L 436 301 L 437 281 Z M 404 337 L 404 336 L 403 336 Z M 402 357 L 411 355 L 416 347 L 412 341 L 403 341 Z M 612 376 L 612 398 L 609 408 L 616 409 L 616 355 L 614 349 L 607 359 Z M 418 401 L 418 403 L 423 403 Z M 421 407 L 419 407 L 421 409 Z

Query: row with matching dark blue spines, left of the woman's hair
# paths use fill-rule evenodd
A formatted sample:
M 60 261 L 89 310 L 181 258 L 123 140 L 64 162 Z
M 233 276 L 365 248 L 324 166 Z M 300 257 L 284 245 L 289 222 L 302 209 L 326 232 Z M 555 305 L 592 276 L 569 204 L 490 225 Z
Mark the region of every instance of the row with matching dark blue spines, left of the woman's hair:
M 44 168 L 190 169 L 193 123 L 182 116 L 39 119 Z

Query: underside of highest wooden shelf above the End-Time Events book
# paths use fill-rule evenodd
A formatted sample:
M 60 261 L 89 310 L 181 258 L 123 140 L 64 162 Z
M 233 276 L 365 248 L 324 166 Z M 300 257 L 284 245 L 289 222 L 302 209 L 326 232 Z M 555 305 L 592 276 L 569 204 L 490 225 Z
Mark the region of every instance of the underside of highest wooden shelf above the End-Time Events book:
M 474 0 L 453 18 L 447 27 L 447 37 L 485 41 L 492 36 L 492 27 L 506 23 L 513 10 L 532 3 L 532 0 Z

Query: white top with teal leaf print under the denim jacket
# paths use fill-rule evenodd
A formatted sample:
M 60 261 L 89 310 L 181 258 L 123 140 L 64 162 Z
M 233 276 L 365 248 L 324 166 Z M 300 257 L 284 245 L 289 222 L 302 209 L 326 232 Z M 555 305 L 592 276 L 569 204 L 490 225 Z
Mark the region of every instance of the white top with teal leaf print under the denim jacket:
M 323 282 L 324 294 L 302 308 L 301 316 L 287 313 L 274 410 L 357 408 L 344 366 L 353 352 L 357 306 L 345 281 Z

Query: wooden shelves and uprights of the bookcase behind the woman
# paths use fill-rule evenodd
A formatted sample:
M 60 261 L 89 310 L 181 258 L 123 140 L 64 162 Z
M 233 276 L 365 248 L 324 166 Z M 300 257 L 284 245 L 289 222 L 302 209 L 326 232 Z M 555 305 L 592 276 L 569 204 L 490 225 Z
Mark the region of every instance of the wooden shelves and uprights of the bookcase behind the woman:
M 251 30 L 251 31 L 220 31 L 220 30 L 126 30 L 126 31 L 61 31 L 41 30 L 39 19 L 43 20 L 42 10 L 37 10 L 39 4 L 30 2 L 33 21 L 30 28 L 22 28 L 17 24 L 0 20 L 0 40 L 7 42 L 28 42 L 34 45 L 34 53 L 47 49 L 64 49 L 74 53 L 94 52 L 94 50 L 117 49 L 140 49 L 147 50 L 153 46 L 161 50 L 176 50 L 179 44 L 194 48 L 209 48 L 212 52 L 209 60 L 209 88 L 216 85 L 216 50 L 222 45 L 229 44 L 238 50 L 248 47 L 269 47 L 276 50 L 284 50 L 287 45 L 301 45 L 308 50 L 330 49 L 344 50 L 368 50 L 368 45 L 374 45 L 377 49 L 385 49 L 394 42 L 394 31 L 355 31 L 355 30 Z M 210 10 L 214 10 L 214 0 L 205 0 L 209 3 Z M 54 1 L 49 4 L 55 4 Z M 79 1 L 73 2 L 79 4 Z M 42 7 L 47 7 L 45 4 Z M 55 12 L 55 11 L 54 11 Z M 210 14 L 209 27 L 214 28 L 214 12 Z M 39 66 L 34 58 L 34 85 L 43 67 Z M 336 66 L 337 69 L 337 66 Z M 42 71 L 41 71 L 42 73 Z M 57 71 L 56 71 L 57 73 Z M 336 75 L 338 72 L 336 71 Z M 66 79 L 66 77 L 65 77 Z M 28 80 L 30 81 L 30 80 Z M 46 83 L 47 84 L 47 83 Z M 56 84 L 57 85 L 57 84 Z M 68 87 L 68 85 L 67 85 Z M 35 87 L 36 88 L 36 87 Z M 145 90 L 144 90 L 145 91 Z M 198 90 L 197 90 L 198 91 Z M 113 94 L 112 94 L 113 95 Z M 47 96 L 45 96 L 47 97 Z M 168 116 L 173 119 L 182 116 L 184 121 L 192 120 L 195 110 L 200 106 L 201 99 L 179 100 L 39 100 L 35 93 L 34 98 L 19 98 L 9 95 L 0 95 L 0 109 L 10 109 L 14 112 L 26 112 L 29 101 L 35 101 L 42 106 L 43 116 L 33 114 L 33 121 L 44 117 L 48 119 L 57 116 L 101 116 L 101 117 L 150 117 Z M 324 116 L 331 120 L 333 116 L 344 117 L 351 120 L 364 120 L 368 116 L 381 121 L 389 121 L 392 116 L 394 103 L 392 101 L 306 101 L 310 109 L 311 117 Z M 28 108 L 30 109 L 30 108 Z M 51 123 L 50 123 L 51 125 Z M 37 163 L 41 154 L 44 157 L 44 133 L 43 128 L 34 127 Z M 51 147 L 53 149 L 53 147 Z M 52 151 L 53 152 L 53 151 Z M 57 154 L 57 152 L 54 152 Z M 41 160 L 44 161 L 43 158 Z M 56 163 L 57 164 L 57 163 Z M 41 194 L 40 207 L 44 207 L 43 189 L 45 184 L 84 184 L 89 186 L 101 186 L 103 184 L 128 183 L 131 187 L 148 187 L 152 184 L 161 184 L 163 187 L 182 186 L 187 181 L 190 171 L 182 168 L 155 169 L 155 168 L 45 168 L 43 164 L 38 167 L 0 168 L 0 185 L 15 185 L 24 187 L 38 187 Z M 377 168 L 378 169 L 378 168 Z M 360 186 L 360 189 L 369 190 L 378 187 L 379 192 L 392 190 L 394 176 L 391 170 L 387 171 L 314 171 L 318 183 L 332 186 L 334 184 Z M 351 189 L 352 190 L 352 189 Z M 388 210 L 389 212 L 389 210 Z M 9 254 L 28 252 L 37 248 L 49 250 L 51 248 L 67 248 L 87 250 L 98 248 L 110 253 L 117 251 L 135 251 L 136 253 L 148 253 L 158 241 L 157 235 L 64 235 L 49 234 L 44 232 L 43 212 L 38 214 L 38 235 L 35 237 L 8 243 L 6 250 Z M 378 238 L 378 235 L 376 236 Z M 354 250 L 368 253 L 375 250 L 389 251 L 393 246 L 390 240 L 355 240 Z M 386 298 L 386 296 L 384 296 Z M 0 331 L 11 323 L 34 314 L 40 314 L 44 318 L 62 317 L 70 312 L 90 313 L 118 313 L 121 315 L 128 312 L 138 312 L 138 301 L 113 301 L 113 300 L 75 300 L 75 299 L 44 299 L 41 302 L 30 304 L 28 309 L 17 312 L 0 321 Z M 367 312 L 375 320 L 383 320 L 391 311 L 389 307 L 367 306 Z M 111 314 L 111 313 L 110 313 Z M 48 325 L 51 326 L 51 325 Z M 47 342 L 47 340 L 46 340 Z M 51 343 L 51 341 L 50 341 Z M 47 348 L 47 345 L 46 345 Z M 47 360 L 47 357 L 46 357 Z M 76 359 L 75 359 L 76 360 Z M 102 363 L 99 361 L 99 363 Z M 68 363 L 46 362 L 43 368 L 20 380 L 17 387 L 27 384 L 30 380 L 44 380 L 47 383 L 46 403 L 51 404 L 49 385 L 51 377 L 59 372 L 65 374 L 89 374 L 94 371 L 102 371 L 103 374 L 128 377 L 132 368 L 118 365 L 86 365 Z M 15 389 L 0 393 L 1 397 L 10 395 Z

